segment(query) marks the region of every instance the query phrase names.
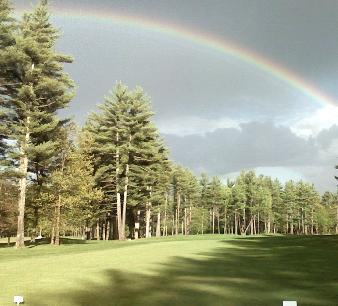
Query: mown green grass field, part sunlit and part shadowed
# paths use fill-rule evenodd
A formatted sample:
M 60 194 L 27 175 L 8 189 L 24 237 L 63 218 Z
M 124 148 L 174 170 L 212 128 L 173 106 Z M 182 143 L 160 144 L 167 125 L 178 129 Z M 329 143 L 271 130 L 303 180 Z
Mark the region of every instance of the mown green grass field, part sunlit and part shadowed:
M 65 242 L 0 248 L 0 305 L 338 305 L 338 236 Z

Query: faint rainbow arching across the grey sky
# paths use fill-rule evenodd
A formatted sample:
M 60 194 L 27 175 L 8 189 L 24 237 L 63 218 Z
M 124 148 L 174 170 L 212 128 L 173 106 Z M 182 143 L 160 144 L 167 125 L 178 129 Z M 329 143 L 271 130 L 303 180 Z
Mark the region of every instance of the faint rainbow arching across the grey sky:
M 110 24 L 117 24 L 126 27 L 133 27 L 146 31 L 156 32 L 162 35 L 171 36 L 175 39 L 182 39 L 204 48 L 215 50 L 227 56 L 231 56 L 247 63 L 264 73 L 273 76 L 282 81 L 291 88 L 294 88 L 316 101 L 321 105 L 337 106 L 336 100 L 316 88 L 310 82 L 304 80 L 302 77 L 287 69 L 286 67 L 262 56 L 248 48 L 244 48 L 234 42 L 225 40 L 223 38 L 213 36 L 212 34 L 205 34 L 199 31 L 190 30 L 182 26 L 162 23 L 154 21 L 145 17 L 128 15 L 125 13 L 118 13 L 113 11 L 106 11 L 94 7 L 87 7 L 83 10 L 73 7 L 56 7 L 53 8 L 53 15 L 60 17 L 69 17 L 76 19 L 89 19 Z

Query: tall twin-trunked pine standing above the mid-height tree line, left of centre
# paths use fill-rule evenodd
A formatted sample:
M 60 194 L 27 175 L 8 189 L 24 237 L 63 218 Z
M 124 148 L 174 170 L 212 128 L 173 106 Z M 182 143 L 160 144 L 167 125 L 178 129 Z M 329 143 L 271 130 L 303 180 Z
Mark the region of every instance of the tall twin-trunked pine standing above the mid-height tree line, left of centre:
M 123 240 L 128 207 L 146 203 L 149 227 L 151 198 L 158 181 L 154 173 L 165 164 L 167 153 L 151 122 L 149 98 L 141 88 L 130 91 L 119 83 L 100 109 L 101 113 L 92 114 L 86 129 L 94 138 L 97 181 L 115 203 L 118 239 Z

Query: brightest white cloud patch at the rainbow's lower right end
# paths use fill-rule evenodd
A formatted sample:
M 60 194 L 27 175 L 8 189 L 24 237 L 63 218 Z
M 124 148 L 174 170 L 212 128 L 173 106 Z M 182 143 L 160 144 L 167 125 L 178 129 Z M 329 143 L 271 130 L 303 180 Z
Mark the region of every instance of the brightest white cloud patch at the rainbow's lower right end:
M 297 136 L 309 138 L 335 124 L 338 124 L 338 106 L 327 105 L 306 117 L 297 118 L 290 128 Z

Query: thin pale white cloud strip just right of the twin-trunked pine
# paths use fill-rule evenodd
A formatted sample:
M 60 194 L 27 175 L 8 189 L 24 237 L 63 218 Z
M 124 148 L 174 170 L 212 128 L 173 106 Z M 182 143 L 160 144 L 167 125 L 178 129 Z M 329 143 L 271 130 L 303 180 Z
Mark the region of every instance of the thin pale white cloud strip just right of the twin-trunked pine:
M 240 130 L 240 123 L 241 122 L 227 117 L 206 119 L 197 116 L 185 116 L 167 120 L 162 119 L 157 125 L 163 134 L 187 136 L 194 134 L 204 135 L 222 128 L 235 128 Z

